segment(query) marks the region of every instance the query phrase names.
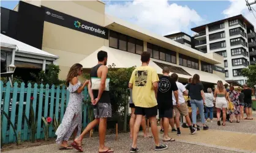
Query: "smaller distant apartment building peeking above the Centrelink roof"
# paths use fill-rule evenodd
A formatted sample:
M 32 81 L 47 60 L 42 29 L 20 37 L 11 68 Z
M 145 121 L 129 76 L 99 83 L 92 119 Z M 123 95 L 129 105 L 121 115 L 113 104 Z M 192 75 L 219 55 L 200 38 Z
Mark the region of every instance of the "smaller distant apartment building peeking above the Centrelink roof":
M 194 38 L 184 32 L 178 32 L 175 34 L 165 35 L 164 37 L 170 40 L 177 41 L 178 43 L 194 48 Z

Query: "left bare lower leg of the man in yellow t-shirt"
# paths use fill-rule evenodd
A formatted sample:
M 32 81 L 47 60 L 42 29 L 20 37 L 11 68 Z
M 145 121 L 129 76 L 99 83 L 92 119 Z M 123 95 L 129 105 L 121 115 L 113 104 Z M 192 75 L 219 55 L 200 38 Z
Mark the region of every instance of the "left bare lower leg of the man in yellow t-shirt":
M 138 130 L 140 130 L 142 117 L 143 115 L 136 115 L 134 130 L 132 132 L 132 148 L 137 148 Z M 152 124 L 151 124 L 151 129 L 152 129 Z

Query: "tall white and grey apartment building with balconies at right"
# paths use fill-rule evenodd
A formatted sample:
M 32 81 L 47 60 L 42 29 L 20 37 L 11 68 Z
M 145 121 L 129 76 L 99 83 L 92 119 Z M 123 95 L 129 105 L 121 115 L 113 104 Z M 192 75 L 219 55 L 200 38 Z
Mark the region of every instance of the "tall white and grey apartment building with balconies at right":
M 215 52 L 224 57 L 226 81 L 246 83 L 241 69 L 255 64 L 254 26 L 243 15 L 232 16 L 191 29 L 197 32 L 195 48 L 201 52 Z M 250 56 L 249 56 L 250 55 Z

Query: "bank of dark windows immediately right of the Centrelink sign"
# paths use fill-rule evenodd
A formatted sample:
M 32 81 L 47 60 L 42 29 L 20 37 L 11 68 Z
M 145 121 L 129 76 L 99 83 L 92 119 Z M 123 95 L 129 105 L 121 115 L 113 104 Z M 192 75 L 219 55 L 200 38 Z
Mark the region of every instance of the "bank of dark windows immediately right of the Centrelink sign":
M 111 48 L 136 54 L 141 54 L 143 52 L 142 40 L 138 40 L 112 30 L 110 30 L 109 46 Z

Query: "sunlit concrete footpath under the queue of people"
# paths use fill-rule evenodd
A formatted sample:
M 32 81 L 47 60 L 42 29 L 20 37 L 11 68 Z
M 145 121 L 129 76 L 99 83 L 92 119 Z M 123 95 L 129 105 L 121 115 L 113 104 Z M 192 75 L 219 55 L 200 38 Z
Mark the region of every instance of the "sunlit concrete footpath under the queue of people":
M 181 128 L 182 135 L 169 132 L 170 137 L 175 138 L 175 142 L 165 143 L 169 149 L 160 152 L 255 152 L 256 153 L 256 120 L 243 120 L 240 123 L 227 123 L 226 126 L 217 126 L 217 121 L 207 123 L 209 130 L 200 130 L 195 135 L 190 135 L 189 129 Z M 160 129 L 160 127 L 159 127 Z M 149 130 L 150 131 L 150 130 Z M 154 139 L 143 138 L 140 132 L 138 137 L 138 148 L 140 152 L 154 151 Z M 162 134 L 159 134 L 162 138 Z M 71 143 L 71 142 L 70 142 Z M 132 140 L 129 133 L 120 133 L 118 140 L 115 135 L 107 135 L 106 145 L 113 148 L 115 152 L 129 152 Z M 85 138 L 83 141 L 84 152 L 97 152 L 99 138 Z M 47 146 L 37 146 L 9 153 L 39 153 L 39 152 L 77 152 L 75 149 L 69 151 L 59 151 L 57 144 Z

